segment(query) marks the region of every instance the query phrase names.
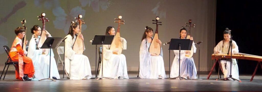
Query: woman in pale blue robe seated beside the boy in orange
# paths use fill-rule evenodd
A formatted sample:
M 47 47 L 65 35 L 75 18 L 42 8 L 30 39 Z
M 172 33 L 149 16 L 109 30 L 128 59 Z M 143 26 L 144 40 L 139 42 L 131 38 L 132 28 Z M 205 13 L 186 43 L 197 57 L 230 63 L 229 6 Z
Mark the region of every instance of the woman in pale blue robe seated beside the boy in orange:
M 35 67 L 35 78 L 36 79 L 45 79 L 49 77 L 49 64 L 50 64 L 50 52 L 49 54 L 42 55 L 42 52 L 45 52 L 46 49 L 40 49 L 37 47 L 37 44 L 39 43 L 40 34 L 41 34 L 41 27 L 39 25 L 34 25 L 33 28 L 31 28 L 32 38 L 29 42 L 28 46 L 28 54 L 27 56 L 30 57 L 33 61 L 34 67 Z M 42 32 L 45 35 L 48 35 L 48 37 L 51 37 L 50 33 L 46 30 L 43 30 Z M 47 49 L 48 50 L 48 49 Z M 53 77 L 53 79 L 59 79 L 59 73 L 56 66 L 56 60 L 54 59 L 53 50 L 51 52 L 51 71 L 50 71 L 50 77 Z

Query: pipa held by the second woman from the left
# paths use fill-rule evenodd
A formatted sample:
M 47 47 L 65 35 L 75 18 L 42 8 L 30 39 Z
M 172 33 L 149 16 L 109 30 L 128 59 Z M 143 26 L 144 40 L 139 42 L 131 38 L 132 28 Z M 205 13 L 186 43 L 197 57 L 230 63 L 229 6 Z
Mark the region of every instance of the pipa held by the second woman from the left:
M 79 32 L 77 37 L 75 38 L 75 42 L 74 42 L 74 46 L 73 46 L 73 50 L 75 51 L 76 54 L 83 54 L 84 52 L 84 43 L 83 40 L 79 37 L 80 34 L 82 34 L 82 23 L 85 24 L 85 22 L 83 22 L 84 20 L 81 20 L 82 15 L 78 15 L 78 19 L 76 22 L 79 22 Z

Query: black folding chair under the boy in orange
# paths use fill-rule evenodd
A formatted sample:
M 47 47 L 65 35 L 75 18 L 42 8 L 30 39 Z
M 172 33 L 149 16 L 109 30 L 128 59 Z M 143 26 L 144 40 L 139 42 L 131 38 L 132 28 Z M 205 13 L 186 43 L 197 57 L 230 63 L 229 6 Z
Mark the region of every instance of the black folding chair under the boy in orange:
M 8 68 L 9 68 L 9 65 L 14 65 L 14 67 L 15 67 L 16 64 L 18 65 L 18 61 L 13 61 L 13 60 L 10 58 L 10 55 L 9 55 L 10 49 L 9 49 L 9 47 L 8 47 L 7 45 L 5 45 L 5 46 L 3 46 L 3 47 L 4 47 L 4 50 L 6 51 L 6 54 L 8 55 L 8 59 L 7 59 L 7 61 L 5 62 L 5 66 L 4 66 L 4 70 L 5 70 L 5 69 L 6 69 L 6 65 L 8 65 L 8 66 L 7 66 L 7 69 L 6 69 L 6 73 L 7 73 L 7 70 L 8 70 Z M 4 73 L 4 70 L 3 70 L 2 74 L 1 74 L 0 80 L 1 80 L 1 78 L 2 78 L 2 75 L 3 75 L 3 73 Z M 15 70 L 19 73 L 19 70 L 18 70 L 17 67 L 15 67 Z M 4 78 L 6 77 L 6 73 L 4 74 Z M 3 80 L 4 80 L 4 78 L 3 78 Z M 22 79 L 23 79 L 23 78 L 22 78 Z M 25 81 L 25 80 L 23 79 L 23 81 Z

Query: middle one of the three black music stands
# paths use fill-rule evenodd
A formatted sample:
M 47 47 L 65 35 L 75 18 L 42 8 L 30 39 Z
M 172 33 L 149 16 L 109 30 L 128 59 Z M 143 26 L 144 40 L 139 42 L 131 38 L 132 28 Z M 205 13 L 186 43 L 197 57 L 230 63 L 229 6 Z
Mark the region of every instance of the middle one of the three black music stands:
M 111 45 L 112 41 L 114 39 L 114 35 L 95 35 L 94 41 L 92 42 L 92 45 L 102 45 L 102 75 L 101 77 L 97 79 L 107 78 L 103 77 L 103 45 Z M 107 78 L 111 79 L 111 78 Z

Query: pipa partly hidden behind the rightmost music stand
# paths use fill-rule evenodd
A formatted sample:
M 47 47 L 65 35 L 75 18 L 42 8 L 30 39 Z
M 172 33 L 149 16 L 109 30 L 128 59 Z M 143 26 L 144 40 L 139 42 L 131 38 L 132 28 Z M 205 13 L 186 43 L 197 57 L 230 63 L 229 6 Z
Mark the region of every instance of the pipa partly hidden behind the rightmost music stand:
M 189 25 L 185 25 L 185 26 L 188 26 L 188 31 L 187 31 L 187 39 L 190 39 L 190 35 L 191 35 L 191 33 L 190 33 L 190 28 L 191 27 L 195 27 L 195 24 L 192 26 L 191 25 L 191 23 L 192 23 L 192 20 L 189 20 L 188 21 L 189 22 Z M 188 24 L 188 23 L 186 23 L 186 24 Z M 191 47 L 191 50 L 189 50 L 190 51 L 190 53 L 187 53 L 187 54 L 185 54 L 185 57 L 187 57 L 187 58 L 191 58 L 192 56 L 193 56 L 193 54 L 194 54 L 194 48 L 193 48 L 193 45 L 192 45 L 192 47 Z

